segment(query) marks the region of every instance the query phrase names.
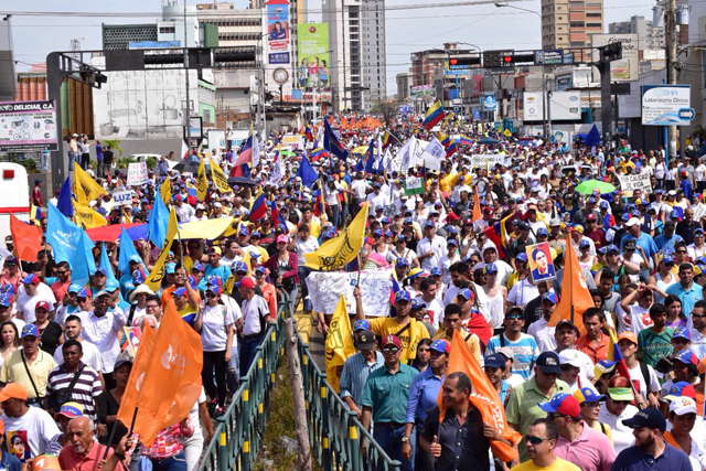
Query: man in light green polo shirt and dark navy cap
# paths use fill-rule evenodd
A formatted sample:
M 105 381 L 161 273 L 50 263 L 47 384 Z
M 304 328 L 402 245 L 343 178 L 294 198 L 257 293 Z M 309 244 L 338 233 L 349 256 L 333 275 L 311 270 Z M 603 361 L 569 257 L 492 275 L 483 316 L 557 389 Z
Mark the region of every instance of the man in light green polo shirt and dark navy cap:
M 559 355 L 556 352 L 543 352 L 534 366 L 534 377 L 518 385 L 507 402 L 507 424 L 521 435 L 525 435 L 535 419 L 546 417 L 538 406 L 555 394 L 570 393 L 569 386 L 558 379 L 561 374 Z M 520 442 L 520 461 L 527 461 L 526 443 Z

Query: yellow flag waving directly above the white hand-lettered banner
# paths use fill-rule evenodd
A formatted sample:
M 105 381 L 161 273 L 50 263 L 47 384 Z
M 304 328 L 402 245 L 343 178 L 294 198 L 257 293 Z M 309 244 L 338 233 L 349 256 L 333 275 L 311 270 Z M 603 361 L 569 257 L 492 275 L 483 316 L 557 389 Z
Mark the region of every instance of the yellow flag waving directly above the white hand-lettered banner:
M 365 221 L 367 220 L 370 204 L 370 202 L 365 203 L 365 206 L 359 211 L 355 218 L 341 235 L 324 243 L 315 251 L 306 254 L 307 267 L 328 271 L 340 268 L 354 259 L 363 246 Z

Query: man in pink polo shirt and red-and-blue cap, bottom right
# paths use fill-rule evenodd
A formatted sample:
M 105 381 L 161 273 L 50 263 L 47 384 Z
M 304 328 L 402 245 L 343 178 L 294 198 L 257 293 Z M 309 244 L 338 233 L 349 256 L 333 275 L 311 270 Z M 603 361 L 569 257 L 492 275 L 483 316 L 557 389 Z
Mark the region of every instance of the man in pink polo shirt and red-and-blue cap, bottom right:
M 581 420 L 581 406 L 570 394 L 559 393 L 539 403 L 547 418 L 556 425 L 559 437 L 554 449 L 557 458 L 573 462 L 584 471 L 608 470 L 616 450 L 603 433 Z

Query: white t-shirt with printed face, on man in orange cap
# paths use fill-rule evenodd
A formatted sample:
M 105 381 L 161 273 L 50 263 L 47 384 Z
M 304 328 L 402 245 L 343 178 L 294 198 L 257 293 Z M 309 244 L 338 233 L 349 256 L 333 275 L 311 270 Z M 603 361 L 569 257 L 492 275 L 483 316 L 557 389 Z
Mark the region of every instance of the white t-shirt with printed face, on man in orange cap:
M 39 407 L 30 407 L 22 417 L 8 417 L 3 414 L 0 418 L 4 422 L 8 450 L 22 462 L 46 453 L 52 441 L 60 435 L 52 416 Z

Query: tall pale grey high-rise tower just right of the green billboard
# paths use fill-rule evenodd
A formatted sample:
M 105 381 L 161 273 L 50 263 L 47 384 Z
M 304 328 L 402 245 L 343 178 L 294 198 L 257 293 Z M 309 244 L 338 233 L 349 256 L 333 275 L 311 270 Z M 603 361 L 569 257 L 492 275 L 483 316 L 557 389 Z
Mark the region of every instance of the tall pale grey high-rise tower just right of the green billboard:
M 385 0 L 323 0 L 338 109 L 367 110 L 387 96 Z

